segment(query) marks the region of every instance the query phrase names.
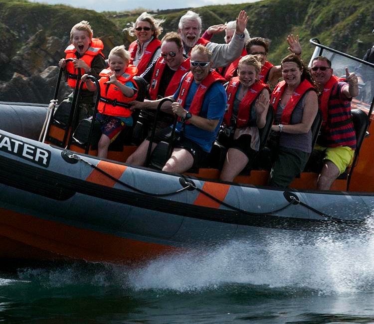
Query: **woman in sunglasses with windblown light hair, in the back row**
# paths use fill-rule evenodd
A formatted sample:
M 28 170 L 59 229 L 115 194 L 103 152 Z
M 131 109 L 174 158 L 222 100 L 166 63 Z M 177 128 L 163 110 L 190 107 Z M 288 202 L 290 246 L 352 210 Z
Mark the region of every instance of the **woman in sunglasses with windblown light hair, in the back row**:
M 129 46 L 130 63 L 138 67 L 141 75 L 150 63 L 160 55 L 161 41 L 157 38 L 163 31 L 161 24 L 164 19 L 155 19 L 151 14 L 143 12 L 133 23 L 132 27 L 125 28 L 137 40 Z

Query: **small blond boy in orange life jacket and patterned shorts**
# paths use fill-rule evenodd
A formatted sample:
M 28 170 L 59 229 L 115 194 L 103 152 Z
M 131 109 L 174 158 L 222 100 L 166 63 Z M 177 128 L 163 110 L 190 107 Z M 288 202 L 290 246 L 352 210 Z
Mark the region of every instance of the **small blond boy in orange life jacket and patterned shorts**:
M 97 156 L 106 158 L 108 147 L 120 134 L 125 126 L 132 126 L 133 119 L 130 105 L 137 95 L 137 85 L 133 77 L 138 68 L 129 64 L 130 53 L 125 47 L 116 46 L 109 53 L 109 69 L 100 73 L 100 101 L 96 120 L 102 123 L 101 138 L 98 144 Z M 87 89 L 96 91 L 96 84 L 87 79 L 88 74 L 82 76 Z

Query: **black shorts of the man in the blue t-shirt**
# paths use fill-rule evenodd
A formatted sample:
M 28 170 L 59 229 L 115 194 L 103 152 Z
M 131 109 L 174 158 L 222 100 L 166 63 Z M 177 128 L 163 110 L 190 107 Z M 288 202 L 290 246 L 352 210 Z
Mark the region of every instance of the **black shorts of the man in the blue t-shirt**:
M 167 142 L 170 143 L 170 137 L 172 135 L 172 129 L 170 127 L 162 129 L 160 132 L 155 134 L 155 137 L 153 139 L 153 143 L 160 143 L 160 142 Z M 150 136 L 147 138 L 148 141 L 150 141 Z M 193 158 L 193 168 L 200 167 L 201 162 L 205 159 L 207 156 L 207 152 L 203 151 L 201 147 L 191 141 L 190 139 L 187 139 L 183 135 L 181 135 L 178 132 L 174 133 L 174 140 L 173 140 L 173 148 L 181 148 L 187 150 L 187 152 L 192 156 Z

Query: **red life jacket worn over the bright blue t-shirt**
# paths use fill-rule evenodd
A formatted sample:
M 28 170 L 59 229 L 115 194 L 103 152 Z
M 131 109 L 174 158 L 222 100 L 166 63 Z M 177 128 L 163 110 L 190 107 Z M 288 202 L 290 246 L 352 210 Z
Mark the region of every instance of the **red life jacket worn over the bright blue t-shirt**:
M 201 81 L 201 83 L 198 85 L 197 90 L 195 95 L 193 96 L 191 105 L 188 109 L 188 112 L 190 112 L 192 115 L 199 116 L 200 110 L 202 107 L 202 104 L 204 102 L 204 96 L 206 91 L 209 89 L 209 87 L 217 82 L 217 81 L 222 81 L 224 82 L 225 79 L 218 73 L 215 72 L 214 70 L 210 71 L 207 77 Z M 193 74 L 192 72 L 188 72 L 186 77 L 184 78 L 181 86 L 181 90 L 178 95 L 177 102 L 179 102 L 182 106 L 185 105 L 185 101 L 187 98 L 187 94 L 189 91 L 189 88 L 193 82 Z M 187 121 L 188 124 L 188 121 Z

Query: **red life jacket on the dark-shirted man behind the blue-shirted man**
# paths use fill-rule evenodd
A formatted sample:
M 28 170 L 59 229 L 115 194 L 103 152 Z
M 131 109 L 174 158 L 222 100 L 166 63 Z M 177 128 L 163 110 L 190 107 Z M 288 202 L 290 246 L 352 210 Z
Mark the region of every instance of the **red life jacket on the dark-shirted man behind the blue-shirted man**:
M 190 64 L 189 64 L 190 59 L 187 58 L 177 69 L 177 71 L 174 73 L 172 79 L 169 81 L 169 85 L 166 88 L 165 95 L 164 97 L 168 97 L 173 95 L 177 89 L 178 86 L 182 80 L 182 77 L 189 71 L 190 69 Z M 160 58 L 157 60 L 155 64 L 155 68 L 153 70 L 153 76 L 151 79 L 150 83 L 150 88 L 149 88 L 149 96 L 151 100 L 156 100 L 158 93 L 159 93 L 159 87 L 160 87 L 160 82 L 161 78 L 164 72 L 166 66 L 166 62 L 163 57 L 160 56 Z

